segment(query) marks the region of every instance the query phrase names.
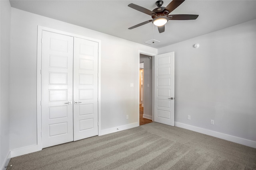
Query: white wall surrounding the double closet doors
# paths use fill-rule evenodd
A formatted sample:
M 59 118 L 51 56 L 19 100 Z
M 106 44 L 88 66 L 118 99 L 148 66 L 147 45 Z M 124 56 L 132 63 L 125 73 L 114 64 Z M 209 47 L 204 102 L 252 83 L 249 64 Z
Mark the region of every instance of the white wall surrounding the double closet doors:
M 138 122 L 138 51 L 157 53 L 140 45 L 12 8 L 10 59 L 10 148 L 36 145 L 37 26 L 101 40 L 102 129 Z M 134 87 L 130 87 L 134 83 Z M 129 119 L 126 119 L 129 115 Z

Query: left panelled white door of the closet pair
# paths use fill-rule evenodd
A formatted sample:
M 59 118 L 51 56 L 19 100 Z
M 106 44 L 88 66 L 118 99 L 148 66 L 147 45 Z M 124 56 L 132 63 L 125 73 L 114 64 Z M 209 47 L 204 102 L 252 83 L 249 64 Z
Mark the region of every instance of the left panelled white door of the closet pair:
M 42 147 L 73 141 L 73 37 L 42 31 Z

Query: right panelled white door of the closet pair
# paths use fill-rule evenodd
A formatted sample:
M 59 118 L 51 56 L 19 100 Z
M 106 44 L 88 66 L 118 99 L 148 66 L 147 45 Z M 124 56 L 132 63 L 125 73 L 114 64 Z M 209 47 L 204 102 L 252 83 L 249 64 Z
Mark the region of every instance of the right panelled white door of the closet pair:
M 74 37 L 74 141 L 98 135 L 98 43 Z

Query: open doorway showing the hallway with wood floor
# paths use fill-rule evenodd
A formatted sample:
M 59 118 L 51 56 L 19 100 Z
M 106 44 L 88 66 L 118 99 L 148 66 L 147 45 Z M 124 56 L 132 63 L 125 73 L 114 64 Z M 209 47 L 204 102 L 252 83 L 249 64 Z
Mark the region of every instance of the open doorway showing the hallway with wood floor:
M 140 54 L 140 125 L 152 122 L 152 56 Z

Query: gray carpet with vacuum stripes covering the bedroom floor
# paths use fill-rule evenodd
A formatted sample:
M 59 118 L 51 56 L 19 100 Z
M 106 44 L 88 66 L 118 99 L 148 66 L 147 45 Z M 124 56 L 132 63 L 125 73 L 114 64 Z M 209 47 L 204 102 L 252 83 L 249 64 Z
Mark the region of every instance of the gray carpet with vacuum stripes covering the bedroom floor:
M 8 170 L 256 170 L 256 149 L 160 123 L 11 158 Z

